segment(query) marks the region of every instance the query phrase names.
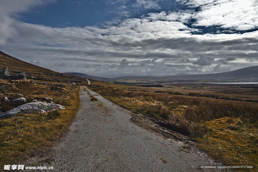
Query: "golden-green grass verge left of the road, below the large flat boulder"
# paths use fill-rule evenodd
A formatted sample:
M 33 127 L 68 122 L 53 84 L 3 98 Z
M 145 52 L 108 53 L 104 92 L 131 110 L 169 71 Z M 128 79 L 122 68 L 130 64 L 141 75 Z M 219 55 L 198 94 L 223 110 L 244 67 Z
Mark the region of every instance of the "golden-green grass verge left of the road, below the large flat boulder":
M 63 97 L 69 100 L 65 110 L 48 114 L 18 114 L 12 118 L 1 119 L 0 165 L 17 164 L 39 148 L 47 149 L 74 119 L 79 107 L 78 97 L 79 87 L 71 89 Z

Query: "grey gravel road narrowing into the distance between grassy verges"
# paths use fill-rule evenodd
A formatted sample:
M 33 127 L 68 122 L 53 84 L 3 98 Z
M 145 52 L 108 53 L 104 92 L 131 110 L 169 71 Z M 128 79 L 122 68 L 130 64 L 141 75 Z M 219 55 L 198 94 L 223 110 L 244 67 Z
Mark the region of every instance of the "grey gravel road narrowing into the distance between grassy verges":
M 89 94 L 98 100 L 90 101 Z M 218 165 L 204 153 L 185 149 L 183 142 L 135 125 L 130 111 L 86 86 L 80 88 L 80 100 L 70 131 L 38 164 L 54 166 L 54 171 L 166 172 L 205 171 L 200 167 Z

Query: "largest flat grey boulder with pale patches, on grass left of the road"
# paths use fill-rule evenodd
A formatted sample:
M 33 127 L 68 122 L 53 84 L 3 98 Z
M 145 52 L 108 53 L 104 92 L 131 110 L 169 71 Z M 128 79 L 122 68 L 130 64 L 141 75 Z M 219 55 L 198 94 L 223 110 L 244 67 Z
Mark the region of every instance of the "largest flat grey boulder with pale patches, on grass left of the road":
M 14 116 L 16 114 L 34 114 L 34 113 L 46 113 L 50 110 L 59 110 L 59 109 L 65 109 L 64 106 L 58 105 L 58 104 L 51 104 L 46 102 L 31 102 L 27 103 L 21 106 L 18 106 L 12 110 L 6 111 L 2 114 L 0 114 L 1 118 L 8 118 L 11 116 Z

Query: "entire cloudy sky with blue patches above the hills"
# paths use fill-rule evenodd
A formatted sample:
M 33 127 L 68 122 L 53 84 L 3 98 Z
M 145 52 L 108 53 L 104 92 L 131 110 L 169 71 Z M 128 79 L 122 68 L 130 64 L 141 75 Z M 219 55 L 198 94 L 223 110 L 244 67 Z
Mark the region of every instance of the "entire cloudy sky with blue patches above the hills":
M 0 50 L 59 72 L 258 65 L 258 0 L 0 0 Z

